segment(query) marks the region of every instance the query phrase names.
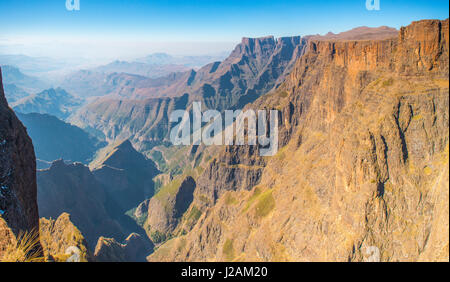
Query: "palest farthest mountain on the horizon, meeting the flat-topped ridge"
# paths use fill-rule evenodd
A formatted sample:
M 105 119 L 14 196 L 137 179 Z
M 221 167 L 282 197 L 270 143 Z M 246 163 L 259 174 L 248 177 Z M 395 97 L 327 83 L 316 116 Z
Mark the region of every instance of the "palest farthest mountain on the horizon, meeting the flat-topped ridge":
M 228 54 L 222 54 L 217 56 L 171 56 L 166 53 L 154 53 L 144 58 L 139 58 L 138 62 L 156 65 L 184 65 L 188 67 L 202 67 L 209 63 L 222 61 Z

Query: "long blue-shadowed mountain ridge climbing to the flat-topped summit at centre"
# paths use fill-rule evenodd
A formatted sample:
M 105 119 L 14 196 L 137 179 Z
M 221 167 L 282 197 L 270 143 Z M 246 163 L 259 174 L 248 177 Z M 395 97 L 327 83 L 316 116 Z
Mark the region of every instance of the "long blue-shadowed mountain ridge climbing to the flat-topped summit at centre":
M 128 84 L 121 88 L 127 98 L 96 100 L 70 121 L 106 140 L 130 139 L 139 150 L 149 149 L 168 141 L 173 109 L 187 109 L 193 101 L 221 111 L 241 108 L 278 86 L 305 48 L 301 37 L 244 38 L 223 62 L 164 80 L 159 88 L 149 87 L 148 79 Z

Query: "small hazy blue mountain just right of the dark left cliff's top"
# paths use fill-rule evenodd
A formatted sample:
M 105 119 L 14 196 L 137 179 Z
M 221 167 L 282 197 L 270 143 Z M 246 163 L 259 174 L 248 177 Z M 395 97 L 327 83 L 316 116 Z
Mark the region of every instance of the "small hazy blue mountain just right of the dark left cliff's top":
M 23 114 L 50 114 L 65 120 L 82 104 L 82 99 L 70 95 L 64 89 L 51 88 L 22 98 L 12 103 L 12 107 Z

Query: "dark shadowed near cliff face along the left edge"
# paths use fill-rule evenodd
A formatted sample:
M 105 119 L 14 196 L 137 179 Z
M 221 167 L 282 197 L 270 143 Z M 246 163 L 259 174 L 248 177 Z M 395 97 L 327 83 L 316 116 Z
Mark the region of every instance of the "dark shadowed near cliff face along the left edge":
M 9 108 L 0 70 L 0 221 L 2 233 L 39 232 L 36 157 L 25 127 Z M 8 231 L 9 230 L 9 231 Z M 10 234 L 11 235 L 11 234 Z M 0 237 L 0 257 L 7 237 Z

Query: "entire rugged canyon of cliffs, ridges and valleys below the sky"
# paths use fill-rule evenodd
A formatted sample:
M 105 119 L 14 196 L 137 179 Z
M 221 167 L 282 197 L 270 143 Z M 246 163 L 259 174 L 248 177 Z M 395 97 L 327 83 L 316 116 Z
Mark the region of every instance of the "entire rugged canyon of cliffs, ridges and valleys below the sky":
M 142 63 L 173 59 L 160 57 Z M 0 75 L 0 261 L 21 232 L 46 261 L 72 246 L 82 261 L 448 261 L 448 62 L 448 19 L 243 38 L 221 62 L 159 78 L 80 71 L 63 88 L 86 104 L 58 106 L 67 123 L 15 108 L 27 128 Z M 10 105 L 52 91 L 73 101 L 56 88 Z M 276 110 L 277 153 L 172 146 L 170 113 L 197 101 Z

